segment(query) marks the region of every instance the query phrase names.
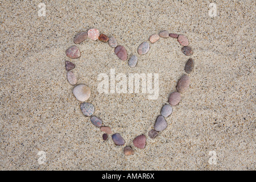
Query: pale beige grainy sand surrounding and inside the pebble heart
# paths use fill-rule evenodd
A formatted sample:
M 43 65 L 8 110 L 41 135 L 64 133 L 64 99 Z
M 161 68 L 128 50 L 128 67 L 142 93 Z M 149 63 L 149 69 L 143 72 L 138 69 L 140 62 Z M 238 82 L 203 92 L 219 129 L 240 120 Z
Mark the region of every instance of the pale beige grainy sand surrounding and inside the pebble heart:
M 39 3 L 46 16 L 38 15 Z M 217 16 L 208 14 L 216 3 Z M 244 1 L 0 1 L 0 169 L 3 170 L 252 170 L 255 169 L 255 2 Z M 65 49 L 79 31 L 115 36 L 128 57 L 152 34 L 184 34 L 195 69 L 189 90 L 158 137 L 148 137 L 183 75 L 188 56 L 161 38 L 130 68 L 108 43 L 86 39 L 79 59 Z M 94 115 L 120 133 L 135 154 L 123 155 L 80 110 L 66 78 L 92 89 Z M 159 73 L 159 97 L 99 94 L 100 73 Z M 134 147 L 137 135 L 146 148 Z M 111 136 L 110 136 L 111 137 Z M 46 163 L 39 164 L 39 151 Z M 210 164 L 210 151 L 217 164 Z

